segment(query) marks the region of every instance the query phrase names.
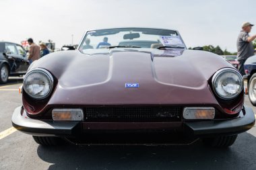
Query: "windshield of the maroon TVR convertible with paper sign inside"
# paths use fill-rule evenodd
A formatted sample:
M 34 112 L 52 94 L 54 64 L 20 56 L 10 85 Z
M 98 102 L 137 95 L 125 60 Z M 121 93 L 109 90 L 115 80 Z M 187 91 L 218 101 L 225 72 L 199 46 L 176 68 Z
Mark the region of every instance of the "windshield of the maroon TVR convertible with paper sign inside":
M 158 48 L 178 46 L 185 48 L 183 40 L 174 30 L 151 28 L 116 28 L 86 33 L 79 50 L 100 48 Z

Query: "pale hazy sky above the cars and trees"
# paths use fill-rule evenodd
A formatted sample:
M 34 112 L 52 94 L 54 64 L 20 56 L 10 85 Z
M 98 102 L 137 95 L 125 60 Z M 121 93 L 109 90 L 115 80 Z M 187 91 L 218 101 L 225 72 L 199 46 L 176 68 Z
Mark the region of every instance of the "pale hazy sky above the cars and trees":
M 255 0 L 0 0 L 0 7 L 0 40 L 51 39 L 57 48 L 79 44 L 86 30 L 149 27 L 178 30 L 187 47 L 236 52 L 241 24 L 256 24 Z

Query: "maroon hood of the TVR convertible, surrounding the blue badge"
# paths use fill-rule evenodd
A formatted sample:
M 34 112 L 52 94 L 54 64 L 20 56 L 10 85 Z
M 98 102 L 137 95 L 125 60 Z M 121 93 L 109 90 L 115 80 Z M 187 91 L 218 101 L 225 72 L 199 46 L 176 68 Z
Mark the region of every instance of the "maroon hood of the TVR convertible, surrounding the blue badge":
M 58 80 L 49 105 L 217 104 L 208 81 L 232 67 L 221 56 L 197 50 L 88 51 L 55 52 L 32 66 Z

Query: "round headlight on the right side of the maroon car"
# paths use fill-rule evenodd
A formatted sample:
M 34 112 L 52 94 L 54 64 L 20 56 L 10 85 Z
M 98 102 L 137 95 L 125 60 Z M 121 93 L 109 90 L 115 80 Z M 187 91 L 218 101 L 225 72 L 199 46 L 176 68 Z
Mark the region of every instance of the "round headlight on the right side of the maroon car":
M 234 69 L 221 69 L 212 79 L 216 94 L 222 99 L 233 99 L 243 90 L 243 77 Z

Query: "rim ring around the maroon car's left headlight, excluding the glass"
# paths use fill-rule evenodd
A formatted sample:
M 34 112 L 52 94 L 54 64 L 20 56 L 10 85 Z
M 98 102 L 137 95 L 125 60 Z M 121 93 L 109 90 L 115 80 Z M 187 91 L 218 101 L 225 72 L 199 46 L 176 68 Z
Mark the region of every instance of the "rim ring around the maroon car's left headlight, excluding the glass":
M 42 73 L 43 75 L 45 75 L 46 77 L 49 78 L 50 82 L 51 82 L 51 85 L 50 85 L 50 89 L 49 89 L 49 92 L 46 93 L 46 95 L 42 96 L 42 97 L 35 97 L 34 95 L 31 95 L 30 93 L 28 93 L 28 91 L 26 90 L 26 88 L 24 87 L 24 83 L 26 81 L 26 78 L 32 74 L 32 73 L 35 73 L 35 72 L 38 72 L 38 73 Z M 23 89 L 24 91 L 26 92 L 26 94 L 28 94 L 30 97 L 32 97 L 33 99 L 46 99 L 47 97 L 49 97 L 49 95 L 51 94 L 51 92 L 53 91 L 53 82 L 54 79 L 53 79 L 53 76 L 51 75 L 51 73 L 49 71 L 46 71 L 46 69 L 41 69 L 41 68 L 36 68 L 36 69 L 32 69 L 30 70 L 28 73 L 26 73 L 25 77 L 24 77 L 24 81 L 23 81 Z

